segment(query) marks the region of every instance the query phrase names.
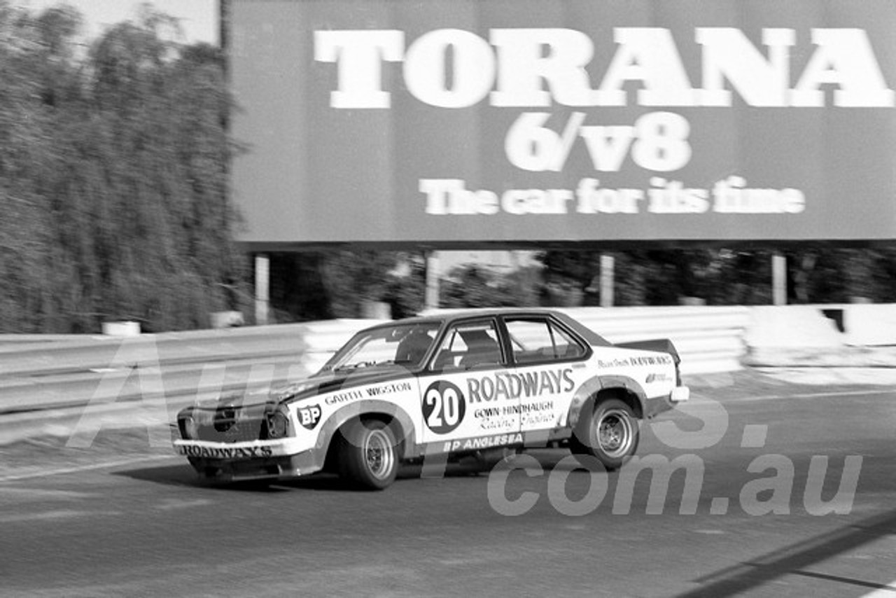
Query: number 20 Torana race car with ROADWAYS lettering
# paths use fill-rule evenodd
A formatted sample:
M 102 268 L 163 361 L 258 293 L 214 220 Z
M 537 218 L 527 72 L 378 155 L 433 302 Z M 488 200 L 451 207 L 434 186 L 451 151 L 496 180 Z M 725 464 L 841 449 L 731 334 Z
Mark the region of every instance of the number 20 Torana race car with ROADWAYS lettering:
M 338 472 L 379 490 L 403 462 L 566 446 L 616 469 L 639 420 L 686 401 L 668 340 L 612 344 L 547 309 L 440 313 L 355 334 L 323 368 L 177 415 L 174 445 L 222 481 Z

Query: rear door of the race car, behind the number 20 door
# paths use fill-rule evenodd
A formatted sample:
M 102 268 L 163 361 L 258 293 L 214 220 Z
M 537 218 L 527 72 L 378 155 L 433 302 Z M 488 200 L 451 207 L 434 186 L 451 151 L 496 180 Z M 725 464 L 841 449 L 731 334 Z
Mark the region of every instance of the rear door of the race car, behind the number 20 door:
M 506 316 L 510 376 L 520 388 L 524 434 L 565 425 L 573 393 L 588 377 L 588 345 L 547 315 Z

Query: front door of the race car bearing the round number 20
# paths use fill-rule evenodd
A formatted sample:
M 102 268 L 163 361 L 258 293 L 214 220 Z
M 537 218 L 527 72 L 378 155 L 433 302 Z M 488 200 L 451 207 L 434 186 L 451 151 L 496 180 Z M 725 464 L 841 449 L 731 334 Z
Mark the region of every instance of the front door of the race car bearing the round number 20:
M 423 442 L 462 451 L 519 440 L 519 396 L 508 382 L 506 364 L 495 318 L 449 326 L 419 378 Z

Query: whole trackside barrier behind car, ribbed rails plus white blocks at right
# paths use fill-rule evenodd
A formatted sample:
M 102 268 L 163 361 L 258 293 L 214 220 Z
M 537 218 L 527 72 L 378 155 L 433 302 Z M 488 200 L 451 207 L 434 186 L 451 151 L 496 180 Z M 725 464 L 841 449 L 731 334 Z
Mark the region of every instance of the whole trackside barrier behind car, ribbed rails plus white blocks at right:
M 685 374 L 732 371 L 744 363 L 896 365 L 896 351 L 879 346 L 896 344 L 892 304 L 563 311 L 610 342 L 671 339 Z M 0 342 L 0 413 L 71 408 L 98 399 L 139 400 L 141 388 L 134 384 L 139 368 L 158 368 L 165 395 L 183 398 L 246 388 L 253 380 L 280 384 L 313 373 L 351 334 L 379 321 Z M 226 375 L 210 376 L 210 370 Z M 121 378 L 121 384 L 109 384 L 110 377 Z

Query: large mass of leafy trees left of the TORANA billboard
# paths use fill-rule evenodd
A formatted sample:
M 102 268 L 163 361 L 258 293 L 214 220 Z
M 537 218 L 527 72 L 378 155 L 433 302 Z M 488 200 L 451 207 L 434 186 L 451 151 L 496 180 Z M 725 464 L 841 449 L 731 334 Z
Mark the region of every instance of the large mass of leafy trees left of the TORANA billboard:
M 0 0 L 0 331 L 208 325 L 243 308 L 218 48 L 144 8 L 84 54 L 80 16 Z

